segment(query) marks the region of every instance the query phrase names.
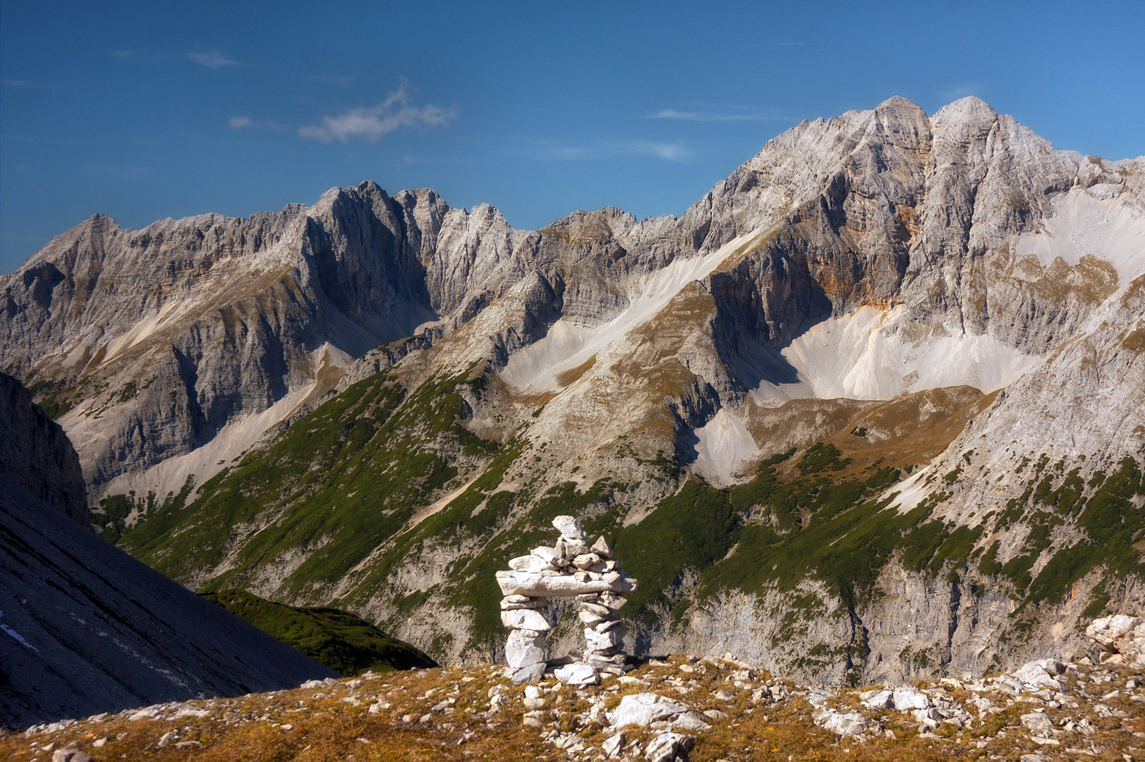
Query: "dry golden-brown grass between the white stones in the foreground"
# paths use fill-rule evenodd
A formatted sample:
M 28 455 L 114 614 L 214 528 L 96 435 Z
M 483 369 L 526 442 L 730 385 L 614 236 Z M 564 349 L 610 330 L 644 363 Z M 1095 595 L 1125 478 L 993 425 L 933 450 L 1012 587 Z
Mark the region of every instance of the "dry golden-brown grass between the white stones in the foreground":
M 1084 704 L 1080 710 L 1045 710 L 1055 721 L 1067 716 L 1093 717 L 1097 732 L 1088 739 L 1079 737 L 1076 743 L 1082 745 L 1084 741 L 1087 748 L 1089 741 L 1096 743 L 1099 748 L 1097 756 L 1077 757 L 1067 753 L 1069 743 L 1074 741 L 1065 739 L 1060 747 L 1039 747 L 1020 728 L 1020 715 L 1030 712 L 1035 705 L 1020 700 L 1005 707 L 1001 714 L 981 715 L 973 728 L 966 730 L 942 724 L 934 731 L 940 737 L 938 739 L 919 737 L 917 723 L 905 714 L 859 709 L 869 718 L 882 720 L 883 728 L 893 731 L 895 736 L 890 738 L 881 734 L 859 744 L 818 728 L 811 721 L 812 706 L 804 698 L 796 697 L 773 705 L 752 705 L 750 690 L 736 689 L 731 683 L 731 671 L 736 669 L 734 665 L 705 660 L 696 663 L 694 671 L 684 673 L 680 665 L 685 660 L 678 658 L 672 661 L 671 667 L 640 667 L 629 675 L 635 681 L 626 679 L 622 683 L 609 678 L 601 686 L 583 691 L 561 686 L 546 699 L 543 709 L 545 730 L 555 728 L 566 733 L 575 732 L 586 747 L 599 747 L 614 730 L 600 721 L 583 720 L 593 702 L 603 700 L 606 708 L 613 708 L 625 694 L 652 691 L 684 700 L 700 712 L 719 709 L 727 714 L 722 720 L 711 721 L 712 729 L 698 734 L 690 756 L 693 762 L 1016 760 L 1021 754 L 1034 752 L 1042 753 L 1048 760 L 1121 760 L 1122 753 L 1128 753 L 1126 749 L 1132 743 L 1145 746 L 1145 738 L 1131 736 L 1135 731 L 1145 731 L 1145 708 L 1140 701 L 1131 701 L 1124 694 L 1106 704 L 1113 709 L 1124 710 L 1129 714 L 1128 718 L 1096 717 L 1091 707 Z M 1108 685 L 1124 685 L 1129 676 L 1129 670 L 1115 673 L 1113 683 Z M 672 677 L 695 681 L 695 684 L 689 683 L 689 690 L 681 694 L 671 682 Z M 766 674 L 757 677 L 764 679 Z M 751 684 L 758 684 L 758 681 L 752 681 Z M 489 708 L 488 692 L 495 685 L 505 685 L 510 700 L 500 712 L 487 718 L 484 713 Z M 548 681 L 545 685 L 553 686 L 554 683 Z M 790 683 L 789 686 L 797 688 Z M 1076 681 L 1071 684 L 1071 688 L 1075 686 Z M 731 692 L 732 700 L 716 698 L 713 693 L 719 689 Z M 427 697 L 426 692 L 431 694 Z M 52 744 L 54 749 L 66 746 L 85 749 L 101 762 L 555 762 L 568 759 L 566 752 L 542 738 L 542 731 L 522 724 L 527 710 L 521 701 L 522 696 L 523 688 L 507 685 L 498 667 L 388 673 L 365 679 L 357 689 L 344 681 L 329 689 L 299 689 L 190 702 L 192 706 L 212 708 L 212 716 L 203 718 L 131 721 L 116 716 L 102 722 L 82 721 L 50 734 L 3 734 L 0 736 L 0 760 L 33 759 L 37 748 L 47 744 Z M 969 691 L 957 690 L 951 690 L 950 696 L 961 704 L 973 697 Z M 342 700 L 350 697 L 355 697 L 360 704 Z M 370 714 L 368 708 L 374 697 L 382 697 L 390 706 L 380 713 Z M 451 712 L 431 710 L 447 697 L 456 701 Z M 856 710 L 858 692 L 843 692 L 831 704 L 848 712 Z M 559 720 L 553 717 L 554 709 L 561 714 Z M 426 714 L 432 720 L 420 722 L 420 717 Z M 410 720 L 404 718 L 406 715 Z M 285 728 L 287 724 L 292 726 Z M 996 738 L 1000 730 L 1006 731 L 1004 738 Z M 195 740 L 202 746 L 158 747 L 159 739 L 167 732 L 175 732 L 180 741 Z M 655 732 L 657 731 L 650 728 L 625 729 L 625 743 L 635 740 L 642 747 Z M 93 741 L 100 738 L 108 740 L 102 747 L 94 747 Z M 988 740 L 988 747 L 978 748 L 979 740 Z M 32 743 L 38 746 L 33 747 Z M 595 749 L 589 752 L 587 759 L 598 754 Z M 38 759 L 48 760 L 50 755 L 41 751 Z

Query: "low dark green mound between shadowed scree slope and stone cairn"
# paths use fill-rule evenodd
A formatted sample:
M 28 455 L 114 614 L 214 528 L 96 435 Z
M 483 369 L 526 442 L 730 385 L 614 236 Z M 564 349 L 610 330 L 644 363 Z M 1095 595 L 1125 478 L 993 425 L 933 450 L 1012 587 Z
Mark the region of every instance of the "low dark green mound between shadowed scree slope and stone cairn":
M 220 590 L 203 597 L 342 675 L 437 666 L 409 643 L 338 608 L 285 606 L 245 590 Z

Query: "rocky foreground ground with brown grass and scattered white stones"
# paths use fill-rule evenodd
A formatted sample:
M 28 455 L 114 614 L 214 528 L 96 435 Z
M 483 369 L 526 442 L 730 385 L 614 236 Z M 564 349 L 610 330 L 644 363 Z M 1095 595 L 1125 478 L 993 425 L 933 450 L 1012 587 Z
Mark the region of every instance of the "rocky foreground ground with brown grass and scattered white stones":
M 0 736 L 0 759 L 1145 759 L 1139 669 L 1087 659 L 843 691 L 776 679 L 731 657 L 653 659 L 589 689 L 514 686 L 503 670 L 366 673 L 35 725 Z

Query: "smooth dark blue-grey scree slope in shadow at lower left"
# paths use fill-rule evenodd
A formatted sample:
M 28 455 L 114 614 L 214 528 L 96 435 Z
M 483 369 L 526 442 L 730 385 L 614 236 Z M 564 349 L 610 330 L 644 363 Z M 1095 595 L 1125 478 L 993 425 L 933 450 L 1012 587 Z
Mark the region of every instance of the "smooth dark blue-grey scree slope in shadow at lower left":
M 6 418 L 6 434 L 50 440 L 48 426 L 33 430 L 29 421 Z M 54 448 L 63 462 L 45 462 L 44 472 L 70 473 L 70 450 L 63 438 Z M 98 539 L 17 486 L 8 466 L 0 462 L 5 725 L 294 688 L 335 674 Z M 56 489 L 80 495 L 82 484 Z

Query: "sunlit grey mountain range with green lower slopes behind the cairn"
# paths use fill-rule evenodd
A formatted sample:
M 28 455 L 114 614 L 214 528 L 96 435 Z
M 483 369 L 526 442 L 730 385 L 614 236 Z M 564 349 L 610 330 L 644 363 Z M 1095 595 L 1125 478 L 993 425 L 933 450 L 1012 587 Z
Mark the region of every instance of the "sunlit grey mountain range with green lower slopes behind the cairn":
M 633 649 L 829 681 L 1060 654 L 1145 597 L 1145 159 L 891 99 L 768 141 L 679 219 L 519 231 L 363 183 L 266 220 L 104 249 L 88 222 L 0 281 L 0 346 L 98 463 L 96 523 L 189 586 L 496 658 L 493 571 L 572 513 L 652 580 Z M 93 280 L 70 262 L 96 250 Z M 321 341 L 321 372 L 279 352 Z

